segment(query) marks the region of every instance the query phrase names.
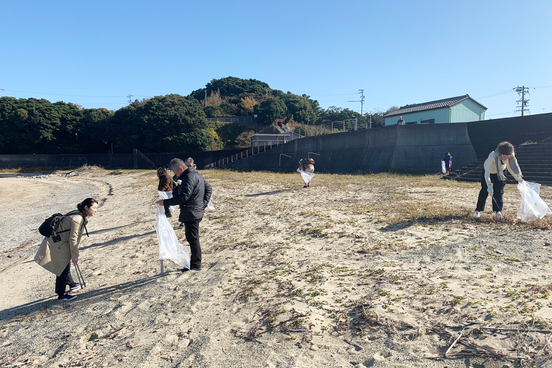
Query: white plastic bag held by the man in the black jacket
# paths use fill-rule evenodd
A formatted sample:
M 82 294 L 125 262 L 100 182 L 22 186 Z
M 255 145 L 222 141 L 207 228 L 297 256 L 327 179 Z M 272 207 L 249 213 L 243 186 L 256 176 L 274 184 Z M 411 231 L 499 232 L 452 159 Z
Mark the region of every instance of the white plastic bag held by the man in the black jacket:
M 163 207 L 157 205 L 155 231 L 159 240 L 159 259 L 170 259 L 184 268 L 190 268 L 190 253 L 184 249 L 165 216 Z

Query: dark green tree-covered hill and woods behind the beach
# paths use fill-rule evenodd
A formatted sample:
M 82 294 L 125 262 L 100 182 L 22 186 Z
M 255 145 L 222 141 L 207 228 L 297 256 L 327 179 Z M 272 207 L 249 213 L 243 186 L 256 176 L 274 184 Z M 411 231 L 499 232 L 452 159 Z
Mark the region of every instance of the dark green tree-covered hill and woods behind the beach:
M 206 96 L 206 99 L 205 99 Z M 45 99 L 0 97 L 0 154 L 194 152 L 248 147 L 253 131 L 243 124 L 209 122 L 217 116 L 257 115 L 323 124 L 362 118 L 349 109 L 321 109 L 316 100 L 284 93 L 256 79 L 213 79 L 184 97 L 135 100 L 119 110 L 83 109 Z

